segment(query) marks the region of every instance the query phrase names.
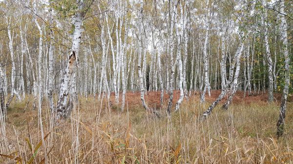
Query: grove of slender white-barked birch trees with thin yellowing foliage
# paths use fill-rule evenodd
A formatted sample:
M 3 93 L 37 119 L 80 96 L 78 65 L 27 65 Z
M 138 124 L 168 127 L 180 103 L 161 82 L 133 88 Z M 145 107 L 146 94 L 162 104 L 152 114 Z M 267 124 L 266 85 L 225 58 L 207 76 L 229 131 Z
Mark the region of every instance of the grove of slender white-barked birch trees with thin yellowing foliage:
M 11 102 L 28 99 L 40 113 L 48 103 L 56 120 L 79 110 L 83 97 L 125 112 L 130 93 L 139 92 L 146 111 L 168 117 L 196 97 L 200 109 L 208 107 L 200 111 L 204 120 L 218 104 L 229 109 L 239 92 L 268 93 L 270 103 L 282 93 L 277 133 L 283 134 L 293 91 L 291 1 L 0 4 L 1 117 Z M 213 90 L 220 91 L 215 99 Z M 150 103 L 152 93 L 158 104 Z

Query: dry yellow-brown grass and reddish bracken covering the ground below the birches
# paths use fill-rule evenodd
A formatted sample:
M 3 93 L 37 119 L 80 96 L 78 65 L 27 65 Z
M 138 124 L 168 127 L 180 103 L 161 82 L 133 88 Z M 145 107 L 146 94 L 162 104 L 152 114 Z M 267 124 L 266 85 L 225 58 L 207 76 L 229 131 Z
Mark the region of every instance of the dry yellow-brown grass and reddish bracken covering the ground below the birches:
M 168 95 L 160 108 L 160 92 L 147 92 L 146 103 L 161 118 L 142 108 L 140 92 L 127 92 L 124 111 L 114 103 L 114 94 L 111 103 L 81 96 L 79 110 L 57 123 L 44 100 L 45 144 L 38 110 L 31 109 L 32 97 L 27 97 L 7 111 L 6 134 L 0 133 L 0 164 L 293 164 L 293 97 L 285 134 L 277 139 L 280 93 L 269 104 L 266 93 L 243 98 L 243 92 L 237 92 L 229 110 L 221 109 L 222 100 L 201 121 L 202 112 L 219 93 L 211 91 L 200 104 L 200 92 L 193 92 L 170 118 L 165 109 Z M 179 94 L 174 91 L 173 107 Z

